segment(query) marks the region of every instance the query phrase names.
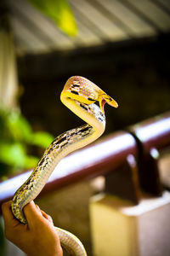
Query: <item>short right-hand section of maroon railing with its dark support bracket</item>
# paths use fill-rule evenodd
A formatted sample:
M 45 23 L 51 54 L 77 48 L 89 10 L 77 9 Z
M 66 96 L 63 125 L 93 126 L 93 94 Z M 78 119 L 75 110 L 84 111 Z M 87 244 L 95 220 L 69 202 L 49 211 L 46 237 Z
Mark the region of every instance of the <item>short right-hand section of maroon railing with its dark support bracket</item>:
M 133 125 L 129 131 L 138 145 L 140 189 L 161 195 L 163 186 L 158 160 L 161 149 L 170 148 L 170 112 Z

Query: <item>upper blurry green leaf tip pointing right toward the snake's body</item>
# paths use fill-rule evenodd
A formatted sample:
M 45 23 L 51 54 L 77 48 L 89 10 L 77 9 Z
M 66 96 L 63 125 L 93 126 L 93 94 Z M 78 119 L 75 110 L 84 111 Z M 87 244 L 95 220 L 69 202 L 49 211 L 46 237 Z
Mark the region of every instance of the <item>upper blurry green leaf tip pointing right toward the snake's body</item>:
M 47 148 L 53 140 L 54 137 L 50 135 L 48 132 L 37 131 L 34 132 L 34 134 L 32 134 L 31 144 Z

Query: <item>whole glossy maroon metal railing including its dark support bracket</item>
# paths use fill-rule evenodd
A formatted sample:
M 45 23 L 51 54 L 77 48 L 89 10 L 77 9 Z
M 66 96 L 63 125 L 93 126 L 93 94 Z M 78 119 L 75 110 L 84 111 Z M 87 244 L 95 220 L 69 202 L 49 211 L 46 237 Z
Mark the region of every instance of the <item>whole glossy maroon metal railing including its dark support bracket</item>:
M 133 177 L 135 175 L 139 177 L 139 181 L 138 178 L 133 178 L 134 190 L 140 188 L 155 195 L 160 194 L 161 182 L 156 168 L 158 155 L 156 153 L 168 147 L 170 147 L 170 113 L 165 113 L 133 125 L 128 131 L 115 132 L 99 143 L 68 155 L 56 166 L 40 195 L 82 179 L 111 175 L 126 163 L 132 168 Z M 150 168 L 146 168 L 149 163 L 151 163 Z M 135 170 L 134 166 L 136 166 Z M 30 174 L 31 171 L 21 173 L 0 183 L 0 205 L 13 197 L 16 189 Z

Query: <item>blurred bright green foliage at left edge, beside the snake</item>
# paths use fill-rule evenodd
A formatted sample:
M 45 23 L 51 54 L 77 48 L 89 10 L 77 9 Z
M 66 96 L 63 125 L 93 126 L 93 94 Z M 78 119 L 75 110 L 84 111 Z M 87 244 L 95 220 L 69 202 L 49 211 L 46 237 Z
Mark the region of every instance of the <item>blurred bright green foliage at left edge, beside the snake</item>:
M 38 158 L 27 153 L 28 146 L 47 148 L 53 139 L 48 132 L 33 132 L 19 112 L 0 108 L 0 177 L 36 166 Z

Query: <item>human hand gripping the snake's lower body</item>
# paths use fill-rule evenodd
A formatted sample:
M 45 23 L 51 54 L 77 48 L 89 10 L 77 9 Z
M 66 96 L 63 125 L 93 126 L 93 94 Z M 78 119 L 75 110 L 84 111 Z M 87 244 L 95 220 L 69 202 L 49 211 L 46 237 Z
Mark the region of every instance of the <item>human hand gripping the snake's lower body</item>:
M 33 201 L 24 207 L 27 224 L 21 224 L 11 211 L 11 201 L 3 203 L 5 236 L 29 256 L 62 256 L 59 236 L 52 218 Z

